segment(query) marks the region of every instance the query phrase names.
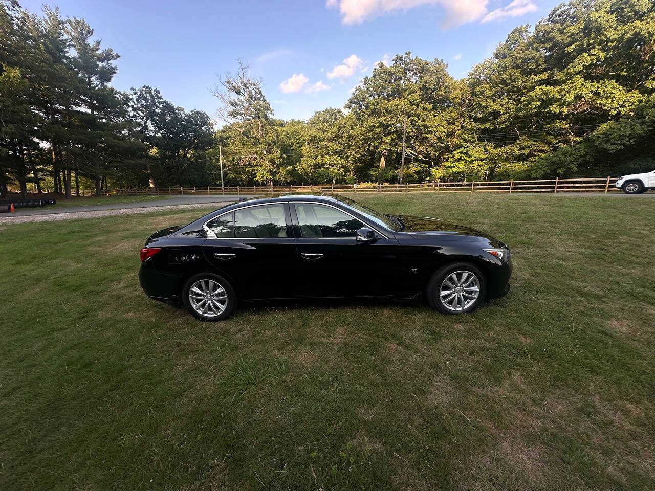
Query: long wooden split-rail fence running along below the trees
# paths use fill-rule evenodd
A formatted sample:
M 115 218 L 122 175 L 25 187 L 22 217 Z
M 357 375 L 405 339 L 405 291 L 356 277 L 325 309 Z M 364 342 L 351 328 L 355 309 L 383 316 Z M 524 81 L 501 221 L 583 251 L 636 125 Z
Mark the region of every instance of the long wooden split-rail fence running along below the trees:
M 185 196 L 212 194 L 285 194 L 288 192 L 616 192 L 614 183 L 618 177 L 589 177 L 573 179 L 534 179 L 510 181 L 463 181 L 458 183 L 417 183 L 417 184 L 383 184 L 377 185 L 307 185 L 307 186 L 216 186 L 206 187 L 157 187 L 117 189 L 116 194 L 136 196 L 150 194 L 155 196 Z

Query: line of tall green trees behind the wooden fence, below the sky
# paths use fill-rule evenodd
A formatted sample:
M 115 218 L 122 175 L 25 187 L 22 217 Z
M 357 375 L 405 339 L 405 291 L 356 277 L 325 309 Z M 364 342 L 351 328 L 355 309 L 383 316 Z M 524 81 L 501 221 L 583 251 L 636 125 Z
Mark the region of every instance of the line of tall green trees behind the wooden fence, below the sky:
M 0 9 L 0 192 L 617 175 L 655 168 L 655 4 L 573 0 L 513 29 L 455 79 L 410 52 L 377 64 L 343 109 L 274 117 L 238 63 L 214 87 L 214 131 L 147 86 L 111 87 L 118 56 L 58 10 Z M 403 135 L 405 153 L 403 157 Z M 384 167 L 381 158 L 384 155 Z M 402 172 L 400 172 L 403 162 Z

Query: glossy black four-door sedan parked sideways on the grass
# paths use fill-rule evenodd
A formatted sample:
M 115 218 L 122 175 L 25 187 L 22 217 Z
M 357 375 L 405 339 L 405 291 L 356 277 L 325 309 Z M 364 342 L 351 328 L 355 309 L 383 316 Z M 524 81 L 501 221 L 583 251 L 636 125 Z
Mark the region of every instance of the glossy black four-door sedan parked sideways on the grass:
M 510 289 L 510 249 L 440 219 L 383 215 L 330 194 L 244 200 L 151 235 L 141 249 L 146 295 L 204 321 L 238 302 L 417 299 L 465 314 Z

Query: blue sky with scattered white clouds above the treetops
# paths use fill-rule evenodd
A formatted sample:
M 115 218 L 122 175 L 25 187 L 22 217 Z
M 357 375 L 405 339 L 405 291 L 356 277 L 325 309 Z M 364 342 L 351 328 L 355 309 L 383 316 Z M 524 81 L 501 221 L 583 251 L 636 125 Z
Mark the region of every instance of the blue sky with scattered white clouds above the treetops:
M 22 0 L 31 12 L 43 1 Z M 237 58 L 264 81 L 275 117 L 307 119 L 343 107 L 377 62 L 411 51 L 466 76 L 515 26 L 558 0 L 58 0 L 121 55 L 113 86 L 150 85 L 187 111 L 217 118 L 210 89 Z

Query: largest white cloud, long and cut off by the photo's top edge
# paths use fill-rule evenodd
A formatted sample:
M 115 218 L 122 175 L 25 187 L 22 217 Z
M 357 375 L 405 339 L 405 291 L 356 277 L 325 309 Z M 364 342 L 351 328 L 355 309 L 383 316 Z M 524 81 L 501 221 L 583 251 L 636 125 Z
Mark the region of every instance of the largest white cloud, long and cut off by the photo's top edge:
M 337 7 L 343 24 L 361 24 L 398 10 L 410 10 L 422 5 L 440 5 L 445 10 L 443 27 L 457 27 L 468 22 L 489 22 L 534 12 L 533 0 L 513 0 L 506 7 L 489 12 L 489 0 L 327 0 L 327 7 Z

